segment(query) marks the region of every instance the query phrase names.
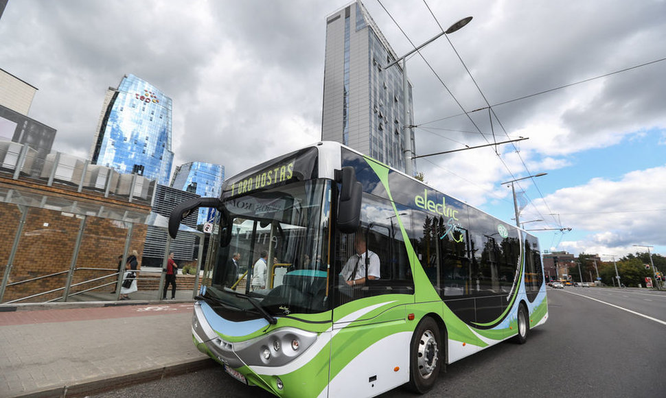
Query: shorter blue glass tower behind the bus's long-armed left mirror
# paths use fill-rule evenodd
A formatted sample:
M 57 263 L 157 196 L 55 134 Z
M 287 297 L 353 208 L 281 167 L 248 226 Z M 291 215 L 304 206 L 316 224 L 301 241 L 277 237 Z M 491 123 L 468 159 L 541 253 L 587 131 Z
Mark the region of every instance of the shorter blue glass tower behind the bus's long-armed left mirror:
M 204 198 L 217 198 L 222 194 L 225 166 L 214 163 L 190 162 L 176 167 L 171 187 L 192 192 Z M 206 222 L 209 209 L 199 209 L 197 224 Z

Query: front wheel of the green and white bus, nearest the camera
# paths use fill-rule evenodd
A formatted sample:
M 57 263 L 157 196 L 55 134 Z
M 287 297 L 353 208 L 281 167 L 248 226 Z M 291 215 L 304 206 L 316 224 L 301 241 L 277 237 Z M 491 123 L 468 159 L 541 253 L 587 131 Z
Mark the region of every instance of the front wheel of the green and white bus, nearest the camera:
M 439 327 L 430 317 L 423 318 L 412 336 L 409 359 L 409 386 L 417 393 L 427 393 L 437 381 L 442 349 Z

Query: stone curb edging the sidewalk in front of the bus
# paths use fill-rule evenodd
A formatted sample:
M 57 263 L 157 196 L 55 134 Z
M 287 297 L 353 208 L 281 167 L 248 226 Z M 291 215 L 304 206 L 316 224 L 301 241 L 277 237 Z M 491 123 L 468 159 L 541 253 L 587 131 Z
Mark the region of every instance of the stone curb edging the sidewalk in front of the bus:
M 152 368 L 146 371 L 130 373 L 114 377 L 104 377 L 93 379 L 87 382 L 75 382 L 71 385 L 56 386 L 38 390 L 23 395 L 14 395 L 14 398 L 66 398 L 66 397 L 86 397 L 87 395 L 103 393 L 108 390 L 126 387 L 133 384 L 141 384 L 161 380 L 165 377 L 183 375 L 200 369 L 215 366 L 216 362 L 210 358 L 190 360 L 179 364 L 172 364 L 162 368 Z

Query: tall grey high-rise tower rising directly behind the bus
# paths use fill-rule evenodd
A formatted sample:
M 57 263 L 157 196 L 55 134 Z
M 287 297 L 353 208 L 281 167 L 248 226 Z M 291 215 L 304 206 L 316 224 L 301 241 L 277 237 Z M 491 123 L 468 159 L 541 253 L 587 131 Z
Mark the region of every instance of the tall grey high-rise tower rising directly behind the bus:
M 404 121 L 402 69 L 391 45 L 360 1 L 326 19 L 321 139 L 338 141 L 404 171 L 405 134 L 414 151 L 411 84 Z M 415 163 L 412 163 L 413 165 Z

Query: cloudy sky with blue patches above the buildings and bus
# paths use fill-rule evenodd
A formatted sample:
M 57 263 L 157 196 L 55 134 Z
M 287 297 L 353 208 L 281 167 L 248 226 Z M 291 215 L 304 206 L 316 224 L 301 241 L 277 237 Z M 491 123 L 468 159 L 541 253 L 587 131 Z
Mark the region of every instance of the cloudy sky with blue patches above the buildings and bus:
M 39 89 L 29 115 L 54 149 L 83 157 L 133 73 L 174 101 L 174 164 L 231 176 L 319 140 L 325 19 L 347 3 L 9 0 L 0 67 Z M 364 4 L 398 55 L 474 17 L 408 60 L 417 154 L 529 138 L 419 159 L 430 185 L 512 222 L 501 183 L 547 173 L 516 183 L 520 220 L 543 220 L 526 229 L 571 228 L 535 232 L 542 249 L 666 255 L 665 1 Z

